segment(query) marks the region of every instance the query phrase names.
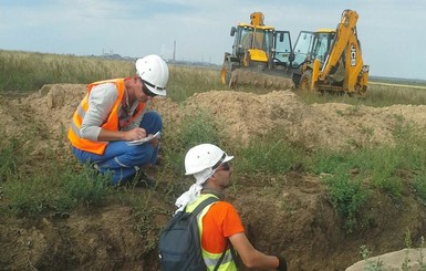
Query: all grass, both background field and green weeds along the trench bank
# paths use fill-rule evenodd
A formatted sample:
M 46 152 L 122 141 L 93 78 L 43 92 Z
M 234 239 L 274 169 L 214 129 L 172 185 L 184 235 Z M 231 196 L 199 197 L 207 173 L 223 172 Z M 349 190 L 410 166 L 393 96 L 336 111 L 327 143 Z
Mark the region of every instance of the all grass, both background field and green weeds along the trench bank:
M 92 81 L 133 75 L 133 61 L 112 61 L 100 58 L 75 55 L 54 55 L 0 51 L 0 94 L 15 95 L 32 93 L 44 84 L 90 83 Z M 219 71 L 207 67 L 170 65 L 169 96 L 176 102 L 185 102 L 194 93 L 210 90 L 227 90 L 220 84 Z M 257 92 L 256 88 L 245 91 Z M 260 90 L 264 92 L 264 90 Z M 334 95 L 305 95 L 306 103 L 349 103 L 368 106 L 393 104 L 426 104 L 426 91 L 409 85 L 371 84 L 365 98 Z M 212 116 L 199 115 L 198 119 L 181 123 L 179 136 L 164 143 L 164 163 L 159 178 L 176 178 L 181 173 L 185 152 L 199 142 L 226 145 L 219 138 L 211 122 Z M 402 186 L 408 181 L 416 191 L 418 200 L 426 202 L 426 142 L 409 127 L 401 127 L 395 134 L 396 145 L 367 147 L 357 150 L 331 152 L 328 149 L 310 153 L 302 146 L 277 144 L 277 135 L 269 135 L 264 144 L 248 147 L 233 146 L 232 153 L 245 157 L 236 165 L 236 171 L 249 176 L 282 175 L 293 168 L 305 174 L 326 173 L 331 177 L 324 181 L 329 186 L 330 201 L 345 219 L 349 231 L 356 228 L 356 215 L 368 200 L 372 191 L 378 189 L 402 196 Z M 7 140 L 0 136 L 0 212 L 9 216 L 38 216 L 44 211 L 66 213 L 76 207 L 96 206 L 111 197 L 134 208 L 135 213 L 146 210 L 146 202 L 137 199 L 129 189 L 116 189 L 107 185 L 106 177 L 94 175 L 89 168 L 77 165 L 72 157 L 58 157 L 49 154 L 39 169 L 28 170 L 32 161 L 27 156 L 25 144 L 19 138 Z M 271 153 L 273 152 L 273 153 Z M 277 157 L 274 163 L 262 164 L 260 154 L 269 153 Z M 285 154 L 285 155 L 282 155 Z M 180 158 L 179 158 L 180 157 Z M 389 163 L 392 161 L 392 163 Z M 70 167 L 70 165 L 72 165 Z M 284 165 L 284 166 L 283 166 Z M 362 174 L 352 179 L 347 173 L 360 168 Z M 256 168 L 256 171 L 250 169 Z M 401 170 L 413 173 L 409 179 L 399 175 Z M 172 176 L 172 177 L 170 177 Z M 96 179 L 96 181 L 92 181 Z M 364 180 L 368 179 L 366 184 Z M 164 188 L 165 199 L 176 197 L 179 190 L 169 184 Z M 114 191 L 114 192 L 112 192 Z M 125 195 L 125 196 L 124 196 Z M 145 221 L 146 222 L 146 221 Z

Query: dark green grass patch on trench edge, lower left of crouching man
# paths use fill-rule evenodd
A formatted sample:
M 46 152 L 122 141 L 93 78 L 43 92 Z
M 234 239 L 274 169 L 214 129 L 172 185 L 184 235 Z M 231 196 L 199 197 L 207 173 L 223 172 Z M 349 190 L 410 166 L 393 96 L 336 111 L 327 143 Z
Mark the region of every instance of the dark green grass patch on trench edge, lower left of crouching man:
M 21 175 L 15 168 L 8 180 L 0 183 L 7 202 L 0 205 L 0 210 L 17 216 L 67 213 L 80 206 L 102 204 L 112 189 L 108 184 L 106 176 L 87 167 L 76 170 L 69 164 L 52 163 L 31 175 Z

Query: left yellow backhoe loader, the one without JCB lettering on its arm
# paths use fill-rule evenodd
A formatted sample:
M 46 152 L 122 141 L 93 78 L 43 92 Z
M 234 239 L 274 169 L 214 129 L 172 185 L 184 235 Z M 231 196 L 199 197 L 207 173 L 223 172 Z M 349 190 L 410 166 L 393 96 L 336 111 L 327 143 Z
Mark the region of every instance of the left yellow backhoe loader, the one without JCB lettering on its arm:
M 250 23 L 232 27 L 230 35 L 235 37 L 232 52 L 225 53 L 220 72 L 224 84 L 232 85 L 231 77 L 237 70 L 253 72 L 245 76 L 256 76 L 256 73 L 271 74 L 287 77 L 291 82 L 291 74 L 285 73 L 292 60 L 289 31 L 264 25 L 263 13 L 253 12 L 250 14 Z

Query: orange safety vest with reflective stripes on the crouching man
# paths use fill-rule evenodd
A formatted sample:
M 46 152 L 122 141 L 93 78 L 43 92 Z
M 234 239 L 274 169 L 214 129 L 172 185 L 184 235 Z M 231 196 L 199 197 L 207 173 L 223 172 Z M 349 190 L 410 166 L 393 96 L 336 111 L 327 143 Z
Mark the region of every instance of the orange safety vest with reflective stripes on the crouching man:
M 71 144 L 82 150 L 86 150 L 89 153 L 103 155 L 106 148 L 107 142 L 93 142 L 90 139 L 82 138 L 80 135 L 80 129 L 83 123 L 83 118 L 85 113 L 89 108 L 89 96 L 91 94 L 91 91 L 94 86 L 105 83 L 114 83 L 118 95 L 117 100 L 114 102 L 114 105 L 111 110 L 108 118 L 105 121 L 105 123 L 101 126 L 103 129 L 107 131 L 118 131 L 118 110 L 121 108 L 121 104 L 124 96 L 124 80 L 125 79 L 114 79 L 114 80 L 105 80 L 105 81 L 98 81 L 90 84 L 87 86 L 87 93 L 77 106 L 76 111 L 74 112 L 73 118 L 71 121 L 71 125 L 67 132 L 67 138 L 70 139 Z M 127 124 L 132 123 L 136 117 L 138 117 L 142 112 L 144 112 L 145 103 L 139 103 L 138 107 L 136 108 L 136 113 L 132 116 L 132 118 L 127 122 Z

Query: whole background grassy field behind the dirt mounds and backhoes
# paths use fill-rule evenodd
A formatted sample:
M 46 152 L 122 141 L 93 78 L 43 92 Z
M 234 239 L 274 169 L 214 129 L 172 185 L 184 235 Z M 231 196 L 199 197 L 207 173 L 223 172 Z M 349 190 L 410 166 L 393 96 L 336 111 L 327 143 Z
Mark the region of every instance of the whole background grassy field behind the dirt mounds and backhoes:
M 135 73 L 133 60 L 28 53 L 0 50 L 0 94 L 31 93 L 44 84 L 81 83 L 123 77 Z M 368 84 L 362 101 L 347 96 L 306 95 L 308 103 L 343 102 L 368 106 L 392 104 L 426 104 L 426 85 L 407 80 L 375 79 Z M 169 96 L 185 101 L 196 92 L 227 90 L 220 84 L 219 69 L 170 65 Z M 264 90 L 245 87 L 245 91 L 264 93 Z

